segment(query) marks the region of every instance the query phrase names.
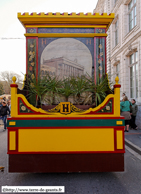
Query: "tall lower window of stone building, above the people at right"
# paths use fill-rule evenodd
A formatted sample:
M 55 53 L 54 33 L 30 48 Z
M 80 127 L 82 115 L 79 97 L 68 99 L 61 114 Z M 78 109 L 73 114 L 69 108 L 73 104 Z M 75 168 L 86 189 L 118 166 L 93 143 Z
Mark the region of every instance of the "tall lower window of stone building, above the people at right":
M 137 52 L 130 55 L 130 97 L 138 98 L 138 56 Z

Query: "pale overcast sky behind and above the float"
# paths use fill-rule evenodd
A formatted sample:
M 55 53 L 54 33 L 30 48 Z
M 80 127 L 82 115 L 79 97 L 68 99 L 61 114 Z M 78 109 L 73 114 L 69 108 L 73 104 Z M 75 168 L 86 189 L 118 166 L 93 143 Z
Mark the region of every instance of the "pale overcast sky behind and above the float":
M 0 72 L 26 72 L 25 29 L 17 18 L 21 12 L 91 12 L 97 0 L 0 0 Z

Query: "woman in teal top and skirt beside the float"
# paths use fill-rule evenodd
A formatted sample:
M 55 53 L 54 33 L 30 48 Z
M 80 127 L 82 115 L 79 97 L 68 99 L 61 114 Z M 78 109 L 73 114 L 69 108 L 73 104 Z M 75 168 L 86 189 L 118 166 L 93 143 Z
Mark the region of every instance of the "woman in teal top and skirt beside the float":
M 129 124 L 130 124 L 130 119 L 131 119 L 131 114 L 130 114 L 130 107 L 132 106 L 131 102 L 129 102 L 127 96 L 123 98 L 123 101 L 120 102 L 120 111 L 121 111 L 121 116 L 125 117 L 125 132 L 129 131 Z

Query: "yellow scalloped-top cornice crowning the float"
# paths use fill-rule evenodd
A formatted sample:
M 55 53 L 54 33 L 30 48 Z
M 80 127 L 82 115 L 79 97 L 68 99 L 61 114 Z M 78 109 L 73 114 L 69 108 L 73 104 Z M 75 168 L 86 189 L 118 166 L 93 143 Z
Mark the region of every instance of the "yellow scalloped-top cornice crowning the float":
M 18 19 L 26 28 L 28 25 L 43 25 L 43 24 L 88 24 L 88 25 L 105 25 L 110 26 L 114 19 L 114 13 L 18 13 Z

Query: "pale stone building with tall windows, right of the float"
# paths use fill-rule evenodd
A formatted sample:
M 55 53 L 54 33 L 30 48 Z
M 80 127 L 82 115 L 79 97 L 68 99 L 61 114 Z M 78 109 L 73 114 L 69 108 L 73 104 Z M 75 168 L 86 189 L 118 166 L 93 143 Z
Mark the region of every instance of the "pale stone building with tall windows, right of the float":
M 107 72 L 112 82 L 119 76 L 121 95 L 136 99 L 141 127 L 141 1 L 98 0 L 94 12 L 115 13 L 107 32 Z

